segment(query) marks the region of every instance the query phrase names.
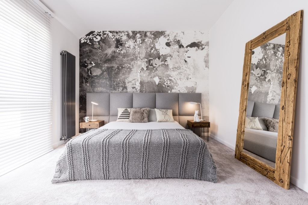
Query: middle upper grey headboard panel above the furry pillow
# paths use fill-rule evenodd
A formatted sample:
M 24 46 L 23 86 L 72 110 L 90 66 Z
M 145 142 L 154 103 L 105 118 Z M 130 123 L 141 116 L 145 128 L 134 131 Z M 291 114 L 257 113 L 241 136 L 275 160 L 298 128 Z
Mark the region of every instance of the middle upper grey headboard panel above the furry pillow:
M 156 93 L 133 93 L 133 108 L 151 108 L 156 105 Z

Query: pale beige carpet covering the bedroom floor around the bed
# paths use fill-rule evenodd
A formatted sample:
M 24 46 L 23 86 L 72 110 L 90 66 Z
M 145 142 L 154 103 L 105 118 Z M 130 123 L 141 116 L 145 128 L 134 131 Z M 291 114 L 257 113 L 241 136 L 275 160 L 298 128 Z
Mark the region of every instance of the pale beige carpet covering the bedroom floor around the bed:
M 307 204 L 308 193 L 285 190 L 210 138 L 217 183 L 191 179 L 91 180 L 52 184 L 61 146 L 0 177 L 0 204 Z

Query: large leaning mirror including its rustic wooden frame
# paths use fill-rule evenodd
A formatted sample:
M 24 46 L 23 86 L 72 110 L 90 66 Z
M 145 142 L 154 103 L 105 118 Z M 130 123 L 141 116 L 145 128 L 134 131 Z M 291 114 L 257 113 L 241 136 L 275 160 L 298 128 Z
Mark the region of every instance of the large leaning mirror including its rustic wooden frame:
M 300 10 L 246 43 L 235 158 L 289 189 Z

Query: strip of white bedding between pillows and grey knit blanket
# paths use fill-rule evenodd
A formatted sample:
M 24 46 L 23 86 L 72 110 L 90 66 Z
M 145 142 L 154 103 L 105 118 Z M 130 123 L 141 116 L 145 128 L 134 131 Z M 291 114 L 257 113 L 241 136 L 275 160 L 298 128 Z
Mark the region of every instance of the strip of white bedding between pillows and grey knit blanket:
M 185 129 L 178 122 L 149 122 L 149 123 L 129 123 L 110 122 L 98 129 L 123 129 L 123 130 L 158 130 L 158 129 Z

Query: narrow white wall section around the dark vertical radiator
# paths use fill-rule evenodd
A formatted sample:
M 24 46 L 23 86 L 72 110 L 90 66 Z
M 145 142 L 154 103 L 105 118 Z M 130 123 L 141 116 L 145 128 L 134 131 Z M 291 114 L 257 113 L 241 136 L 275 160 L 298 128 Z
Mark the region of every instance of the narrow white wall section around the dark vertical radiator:
M 76 134 L 79 133 L 79 39 L 57 19 L 52 19 L 52 144 L 63 144 L 61 138 L 61 56 L 67 50 L 76 56 Z

